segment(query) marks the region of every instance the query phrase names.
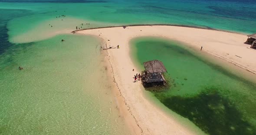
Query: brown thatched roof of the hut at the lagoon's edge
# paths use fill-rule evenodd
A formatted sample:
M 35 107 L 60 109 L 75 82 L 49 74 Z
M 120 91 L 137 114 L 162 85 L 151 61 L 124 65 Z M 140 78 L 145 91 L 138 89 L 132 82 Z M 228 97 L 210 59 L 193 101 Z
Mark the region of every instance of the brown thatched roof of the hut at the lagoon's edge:
M 146 72 L 148 73 L 167 72 L 166 68 L 164 67 L 164 64 L 161 61 L 153 60 L 144 62 L 143 64 L 146 69 Z

